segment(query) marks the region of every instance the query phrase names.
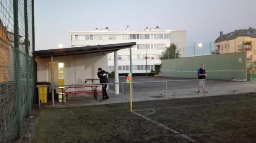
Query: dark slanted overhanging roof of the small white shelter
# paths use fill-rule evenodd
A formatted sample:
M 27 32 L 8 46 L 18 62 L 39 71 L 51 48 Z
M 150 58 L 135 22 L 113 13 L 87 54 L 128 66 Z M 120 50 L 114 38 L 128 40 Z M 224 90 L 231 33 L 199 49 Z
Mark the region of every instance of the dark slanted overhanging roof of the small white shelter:
M 113 51 L 126 49 L 134 45 L 136 45 L 136 42 L 96 45 L 96 46 L 83 46 L 83 47 L 76 47 L 76 48 L 39 50 L 39 51 L 35 51 L 34 56 L 38 58 L 42 58 L 42 57 L 51 57 L 51 56 L 56 57 L 56 56 L 66 56 L 66 55 L 75 55 L 75 54 L 93 54 L 93 53 L 102 53 L 102 52 L 111 53 Z

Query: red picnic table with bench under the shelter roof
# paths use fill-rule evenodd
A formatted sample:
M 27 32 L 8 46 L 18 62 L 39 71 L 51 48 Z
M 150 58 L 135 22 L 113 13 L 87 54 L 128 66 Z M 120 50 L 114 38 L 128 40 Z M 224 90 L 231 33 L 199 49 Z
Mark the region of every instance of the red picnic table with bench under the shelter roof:
M 74 92 L 68 92 L 67 89 L 74 89 L 74 88 L 86 88 L 86 87 L 90 87 L 92 90 L 84 90 L 84 91 L 74 91 Z M 93 93 L 94 94 L 94 99 L 97 100 L 97 93 L 100 93 L 100 90 L 97 90 L 97 87 L 99 86 L 63 86 L 63 87 L 59 87 L 58 89 L 61 89 L 61 93 L 62 94 L 62 103 L 64 103 L 64 96 L 66 96 L 66 100 L 67 100 L 67 96 L 68 94 L 82 94 L 82 93 Z

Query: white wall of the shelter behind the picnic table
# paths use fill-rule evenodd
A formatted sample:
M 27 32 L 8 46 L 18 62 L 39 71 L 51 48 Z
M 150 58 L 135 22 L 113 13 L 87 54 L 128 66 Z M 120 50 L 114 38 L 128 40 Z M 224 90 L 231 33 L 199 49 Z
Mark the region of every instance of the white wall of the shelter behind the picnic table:
M 47 63 L 50 57 L 36 58 L 37 79 L 48 81 Z M 107 54 L 78 54 L 70 56 L 53 57 L 54 62 L 64 63 L 64 84 L 84 84 L 86 78 L 98 78 L 98 68 L 108 70 Z M 99 80 L 95 80 L 99 83 Z M 48 81 L 51 82 L 51 81 Z M 91 83 L 90 81 L 87 84 Z M 55 83 L 56 84 L 56 83 Z M 99 88 L 100 89 L 100 88 Z

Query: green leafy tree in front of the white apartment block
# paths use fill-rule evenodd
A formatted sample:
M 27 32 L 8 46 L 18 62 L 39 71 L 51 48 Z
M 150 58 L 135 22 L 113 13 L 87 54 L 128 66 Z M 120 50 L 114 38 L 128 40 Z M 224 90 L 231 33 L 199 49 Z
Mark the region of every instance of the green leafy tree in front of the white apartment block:
M 180 57 L 180 50 L 177 51 L 177 47 L 175 44 L 171 44 L 166 48 L 165 51 L 162 52 L 163 59 L 174 59 Z M 176 54 L 176 56 L 175 56 Z

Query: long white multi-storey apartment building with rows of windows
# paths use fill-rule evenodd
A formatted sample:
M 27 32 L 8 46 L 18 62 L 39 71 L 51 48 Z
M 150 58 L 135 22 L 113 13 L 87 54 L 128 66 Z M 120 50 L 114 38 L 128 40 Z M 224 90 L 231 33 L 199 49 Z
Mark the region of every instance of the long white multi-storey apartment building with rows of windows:
M 133 73 L 161 72 L 160 64 L 163 50 L 171 43 L 177 46 L 181 57 L 186 55 L 186 30 L 160 30 L 156 28 L 144 29 L 143 31 L 131 31 L 129 26 L 125 31 L 110 31 L 95 29 L 95 31 L 70 31 L 71 47 L 94 46 L 116 43 L 136 42 L 132 47 L 132 70 Z M 178 43 L 178 44 L 177 44 Z M 118 51 L 119 73 L 130 72 L 129 49 Z M 146 71 L 147 69 L 147 71 Z M 108 70 L 114 71 L 114 53 L 108 54 Z

